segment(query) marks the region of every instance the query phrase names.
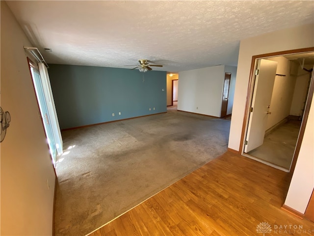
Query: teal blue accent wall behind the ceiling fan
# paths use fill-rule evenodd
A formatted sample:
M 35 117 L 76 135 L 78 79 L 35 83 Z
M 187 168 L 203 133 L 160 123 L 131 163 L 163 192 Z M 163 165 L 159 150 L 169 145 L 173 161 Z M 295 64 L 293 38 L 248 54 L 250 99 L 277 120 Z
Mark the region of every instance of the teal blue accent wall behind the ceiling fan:
M 49 64 L 49 67 L 61 129 L 167 111 L 165 71 L 142 73 L 122 68 L 60 64 Z

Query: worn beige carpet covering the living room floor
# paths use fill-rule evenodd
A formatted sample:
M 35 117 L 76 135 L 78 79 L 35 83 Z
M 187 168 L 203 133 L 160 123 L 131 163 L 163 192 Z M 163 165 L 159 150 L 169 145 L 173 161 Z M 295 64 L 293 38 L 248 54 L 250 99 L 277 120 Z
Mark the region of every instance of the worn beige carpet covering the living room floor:
M 89 234 L 219 156 L 229 129 L 230 120 L 168 111 L 63 132 L 55 236 Z

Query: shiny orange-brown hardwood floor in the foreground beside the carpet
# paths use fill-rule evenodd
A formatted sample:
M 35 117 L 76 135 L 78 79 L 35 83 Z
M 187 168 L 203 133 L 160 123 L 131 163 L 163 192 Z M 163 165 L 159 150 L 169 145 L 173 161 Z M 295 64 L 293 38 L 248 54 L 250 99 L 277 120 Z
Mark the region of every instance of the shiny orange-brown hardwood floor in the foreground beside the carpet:
M 265 236 L 314 235 L 280 208 L 288 184 L 288 173 L 226 152 L 90 236 L 263 236 L 262 222 Z

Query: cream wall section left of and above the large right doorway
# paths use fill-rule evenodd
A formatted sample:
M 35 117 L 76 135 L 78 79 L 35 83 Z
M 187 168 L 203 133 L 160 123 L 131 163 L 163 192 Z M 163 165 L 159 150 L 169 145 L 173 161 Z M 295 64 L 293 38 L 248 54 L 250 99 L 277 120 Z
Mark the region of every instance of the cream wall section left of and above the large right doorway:
M 313 46 L 313 24 L 298 28 L 279 30 L 241 40 L 236 72 L 235 97 L 230 127 L 229 148 L 239 150 L 252 57 L 254 55 Z

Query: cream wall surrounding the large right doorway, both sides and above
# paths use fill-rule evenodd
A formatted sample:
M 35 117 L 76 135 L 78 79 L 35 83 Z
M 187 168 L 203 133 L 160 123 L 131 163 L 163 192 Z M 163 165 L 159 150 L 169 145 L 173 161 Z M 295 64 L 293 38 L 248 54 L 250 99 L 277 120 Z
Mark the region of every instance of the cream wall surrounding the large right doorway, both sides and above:
M 276 32 L 262 34 L 257 37 L 247 38 L 241 40 L 238 66 L 237 66 L 237 75 L 235 82 L 235 98 L 234 98 L 234 108 L 231 119 L 231 128 L 229 136 L 229 148 L 234 150 L 239 150 L 241 132 L 242 132 L 242 123 L 244 118 L 244 109 L 247 96 L 247 88 L 250 76 L 251 60 L 254 55 L 261 55 L 272 52 L 280 52 L 285 50 L 299 49 L 299 48 L 308 48 L 314 47 L 314 25 L 304 25 L 297 28 L 283 29 Z M 313 114 L 312 103 L 311 109 Z M 313 190 L 313 175 L 314 168 L 313 164 L 309 165 L 309 151 L 311 147 L 313 148 L 313 125 L 314 118 L 313 115 L 308 119 L 306 132 L 300 152 L 297 165 L 295 167 L 293 181 L 291 182 L 291 187 L 289 188 L 286 205 L 288 207 L 295 208 L 296 210 L 302 212 L 301 207 L 296 206 L 305 206 L 308 204 L 310 195 L 302 195 L 297 190 L 297 185 L 302 186 L 302 192 L 311 192 Z M 312 138 L 310 137 L 312 135 Z M 312 150 L 313 153 L 313 150 Z M 313 159 L 313 157 L 312 157 Z M 306 172 L 307 177 L 312 177 L 311 181 L 308 181 L 310 178 L 300 177 L 300 173 Z M 295 187 L 294 187 L 295 186 Z M 298 198 L 292 198 L 290 196 L 298 196 Z

